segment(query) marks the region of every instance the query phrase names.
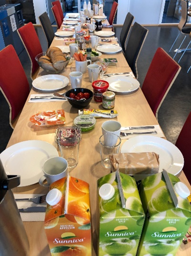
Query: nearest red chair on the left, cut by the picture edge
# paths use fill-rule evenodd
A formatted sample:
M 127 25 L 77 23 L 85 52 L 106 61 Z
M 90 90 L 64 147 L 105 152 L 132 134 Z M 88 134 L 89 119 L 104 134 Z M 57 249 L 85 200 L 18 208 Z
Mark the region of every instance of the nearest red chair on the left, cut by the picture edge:
M 28 80 L 12 45 L 0 51 L 0 89 L 10 107 L 10 126 L 14 129 L 30 93 Z

